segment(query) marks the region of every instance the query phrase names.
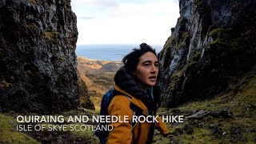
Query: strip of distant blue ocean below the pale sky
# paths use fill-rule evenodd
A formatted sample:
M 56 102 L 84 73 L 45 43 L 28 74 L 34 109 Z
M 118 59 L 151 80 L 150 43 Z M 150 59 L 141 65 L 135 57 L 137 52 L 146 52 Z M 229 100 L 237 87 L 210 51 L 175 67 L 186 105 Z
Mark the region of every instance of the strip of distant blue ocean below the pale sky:
M 151 45 L 157 53 L 162 50 L 162 46 Z M 83 56 L 91 59 L 122 61 L 122 58 L 130 53 L 135 47 L 139 45 L 81 45 L 77 46 L 75 53 L 77 56 Z

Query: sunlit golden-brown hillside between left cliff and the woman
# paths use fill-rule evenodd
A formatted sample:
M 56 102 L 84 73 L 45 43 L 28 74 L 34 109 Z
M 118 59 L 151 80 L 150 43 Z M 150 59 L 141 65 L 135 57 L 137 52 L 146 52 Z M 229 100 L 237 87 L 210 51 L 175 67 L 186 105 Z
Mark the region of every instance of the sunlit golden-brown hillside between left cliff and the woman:
M 78 57 L 78 71 L 86 82 L 95 110 L 99 110 L 102 95 L 114 86 L 114 74 L 121 66 L 122 62 Z

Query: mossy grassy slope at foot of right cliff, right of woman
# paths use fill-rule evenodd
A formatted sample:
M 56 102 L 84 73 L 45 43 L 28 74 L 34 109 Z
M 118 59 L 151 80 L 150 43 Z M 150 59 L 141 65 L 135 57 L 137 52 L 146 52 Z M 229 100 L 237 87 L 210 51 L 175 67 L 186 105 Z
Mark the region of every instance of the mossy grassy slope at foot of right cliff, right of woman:
M 226 93 L 201 102 L 190 102 L 177 109 L 160 109 L 160 114 L 183 114 L 188 116 L 199 110 L 211 113 L 198 119 L 185 119 L 182 124 L 167 123 L 169 138 L 157 136 L 156 143 L 254 143 L 256 141 L 256 74 L 245 74 Z M 229 117 L 214 116 L 227 111 Z M 210 124 L 217 125 L 211 128 Z M 186 127 L 190 127 L 191 132 Z

